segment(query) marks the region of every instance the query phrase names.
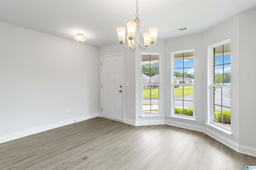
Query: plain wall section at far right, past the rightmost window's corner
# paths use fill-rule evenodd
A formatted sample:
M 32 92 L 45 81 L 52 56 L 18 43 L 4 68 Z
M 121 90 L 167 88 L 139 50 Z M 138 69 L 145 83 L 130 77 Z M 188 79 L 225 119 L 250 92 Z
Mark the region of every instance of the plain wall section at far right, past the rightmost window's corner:
M 255 28 L 256 8 L 239 14 L 239 143 L 253 148 L 256 148 Z

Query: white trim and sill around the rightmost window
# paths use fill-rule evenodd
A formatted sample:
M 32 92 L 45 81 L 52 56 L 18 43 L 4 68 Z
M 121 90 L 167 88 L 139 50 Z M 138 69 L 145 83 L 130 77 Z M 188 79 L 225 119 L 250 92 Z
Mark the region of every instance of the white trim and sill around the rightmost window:
M 223 133 L 225 135 L 228 135 L 229 137 L 232 137 L 232 133 L 231 133 L 231 126 L 230 128 L 225 127 L 223 125 L 219 125 L 218 123 L 215 123 L 212 119 L 213 117 L 213 107 L 212 107 L 212 102 L 213 102 L 213 94 L 212 94 L 212 90 L 214 86 L 218 86 L 218 87 L 231 87 L 231 85 L 213 85 L 213 49 L 215 47 L 218 47 L 220 45 L 224 45 L 227 43 L 231 43 L 231 39 L 227 39 L 225 41 L 216 43 L 214 45 L 210 45 L 208 46 L 208 119 L 207 119 L 207 123 L 206 125 L 208 125 L 208 127 L 211 127 L 212 129 L 219 131 L 220 133 Z M 232 108 L 232 107 L 231 107 Z M 231 110 L 231 109 L 230 109 Z M 232 111 L 231 111 L 232 112 Z

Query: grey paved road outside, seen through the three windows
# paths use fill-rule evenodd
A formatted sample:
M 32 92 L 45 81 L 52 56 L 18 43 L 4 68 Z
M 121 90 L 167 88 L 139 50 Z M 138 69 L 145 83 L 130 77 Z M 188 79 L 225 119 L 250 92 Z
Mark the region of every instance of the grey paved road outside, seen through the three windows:
M 193 101 L 193 96 L 184 97 L 184 100 Z M 182 107 L 182 103 L 183 102 L 180 100 L 175 100 L 175 106 L 178 108 Z M 143 104 L 150 104 L 150 100 L 143 100 Z M 152 99 L 151 104 L 158 105 L 158 99 Z M 221 88 L 218 88 L 215 91 L 215 104 L 221 105 Z M 222 106 L 230 107 L 230 88 L 222 88 Z M 193 102 L 184 101 L 184 107 L 193 107 Z M 229 108 L 224 109 L 229 110 Z

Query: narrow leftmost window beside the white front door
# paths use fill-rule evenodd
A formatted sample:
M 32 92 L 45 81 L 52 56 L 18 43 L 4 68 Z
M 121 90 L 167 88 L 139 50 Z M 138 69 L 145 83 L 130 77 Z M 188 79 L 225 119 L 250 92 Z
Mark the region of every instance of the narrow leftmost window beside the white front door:
M 142 55 L 143 113 L 159 112 L 159 55 Z

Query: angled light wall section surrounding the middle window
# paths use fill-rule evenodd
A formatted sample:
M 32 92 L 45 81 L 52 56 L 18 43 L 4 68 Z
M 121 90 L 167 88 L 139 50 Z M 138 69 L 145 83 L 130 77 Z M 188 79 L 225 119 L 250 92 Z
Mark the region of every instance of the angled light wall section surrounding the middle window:
M 194 128 L 195 126 L 202 126 L 204 122 L 204 111 L 203 111 L 203 60 L 204 56 L 202 55 L 202 33 L 188 35 L 184 37 L 168 39 L 165 41 L 165 81 L 166 81 L 166 97 L 165 97 L 165 119 L 170 125 L 182 126 L 184 121 L 174 120 L 170 118 L 172 114 L 172 91 L 171 91 L 171 72 L 173 71 L 171 57 L 172 52 L 175 51 L 184 51 L 194 49 L 194 115 L 196 122 L 186 122 L 186 124 L 191 124 L 193 127 L 186 125 L 188 128 Z

